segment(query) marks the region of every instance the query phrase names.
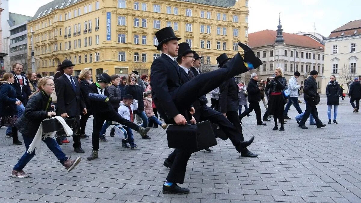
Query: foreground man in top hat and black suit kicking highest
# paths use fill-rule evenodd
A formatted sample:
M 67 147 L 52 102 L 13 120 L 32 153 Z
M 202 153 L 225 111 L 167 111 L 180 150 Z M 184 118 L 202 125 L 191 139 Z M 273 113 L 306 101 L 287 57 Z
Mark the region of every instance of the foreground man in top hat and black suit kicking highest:
M 262 62 L 255 56 L 252 49 L 245 54 L 248 63 L 243 61 L 238 53 L 231 59 L 225 68 L 209 73 L 200 74 L 197 80 L 192 79 L 181 83 L 180 69 L 173 57 L 178 56 L 178 40 L 171 27 L 165 27 L 156 33 L 158 39 L 157 50 L 162 55 L 155 59 L 151 66 L 152 96 L 160 115 L 167 124 L 185 125 L 191 122 L 189 107 L 200 96 L 210 92 L 227 79 L 247 72 L 248 68 L 258 68 Z M 192 57 L 193 58 L 193 57 Z M 247 143 L 248 144 L 248 143 Z M 163 185 L 163 193 L 186 194 L 189 189 L 181 188 L 177 183 L 183 184 L 187 162 L 191 156 L 190 150 L 175 149 L 175 159 Z

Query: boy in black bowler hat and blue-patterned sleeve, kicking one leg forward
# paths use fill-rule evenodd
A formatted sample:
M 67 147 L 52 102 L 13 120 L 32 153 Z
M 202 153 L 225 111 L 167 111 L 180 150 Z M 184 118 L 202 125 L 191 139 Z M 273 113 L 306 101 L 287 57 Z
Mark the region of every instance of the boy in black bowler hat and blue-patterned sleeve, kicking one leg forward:
M 138 131 L 142 136 L 147 134 L 149 128 L 143 128 L 136 125 L 134 122 L 126 120 L 118 112 L 115 111 L 112 104 L 109 102 L 109 93 L 105 88 L 111 82 L 108 74 L 102 73 L 96 83 L 91 83 L 88 86 L 89 100 L 93 111 L 93 133 L 92 133 L 92 146 L 93 150 L 88 160 L 98 158 L 99 150 L 99 133 L 103 127 L 104 121 L 116 121 L 122 125 Z

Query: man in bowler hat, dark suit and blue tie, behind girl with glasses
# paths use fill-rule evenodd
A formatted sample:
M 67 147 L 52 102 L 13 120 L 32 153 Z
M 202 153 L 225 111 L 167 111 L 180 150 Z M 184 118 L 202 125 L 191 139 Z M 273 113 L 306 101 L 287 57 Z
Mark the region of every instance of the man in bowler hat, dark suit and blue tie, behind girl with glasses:
M 55 80 L 55 90 L 57 96 L 57 115 L 63 118 L 74 117 L 77 121 L 77 132 L 73 135 L 74 151 L 84 153 L 80 142 L 80 113 L 85 115 L 87 109 L 83 95 L 80 91 L 78 80 L 73 77 L 74 64 L 69 60 L 64 60 L 61 65 L 64 74 Z

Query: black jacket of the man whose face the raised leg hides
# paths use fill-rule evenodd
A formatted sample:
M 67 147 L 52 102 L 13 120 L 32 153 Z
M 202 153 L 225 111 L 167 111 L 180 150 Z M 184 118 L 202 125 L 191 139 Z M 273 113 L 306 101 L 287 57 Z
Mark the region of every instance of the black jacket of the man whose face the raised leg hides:
M 238 85 L 234 77 L 219 86 L 219 112 L 238 111 Z

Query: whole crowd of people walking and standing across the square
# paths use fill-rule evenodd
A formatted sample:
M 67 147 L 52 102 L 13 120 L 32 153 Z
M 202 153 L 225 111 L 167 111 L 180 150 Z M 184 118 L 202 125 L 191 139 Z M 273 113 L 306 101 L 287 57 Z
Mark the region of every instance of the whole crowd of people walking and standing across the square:
M 78 77 L 74 77 L 75 65 L 69 60 L 58 65 L 54 77 L 41 77 L 31 72 L 26 75 L 20 62 L 12 66 L 10 73 L 3 74 L 0 81 L 0 126 L 8 127 L 6 136 L 13 138 L 13 144 L 22 145 L 18 139 L 19 131 L 26 148 L 11 175 L 17 178 L 29 177 L 23 168 L 39 150 L 34 150 L 34 143 L 42 128 L 42 121 L 54 116 L 74 124 L 70 136 L 73 137 L 75 152 L 84 153 L 81 140 L 92 139 L 92 151 L 87 160 L 99 159 L 99 142 L 107 141 L 106 130 L 111 125 L 110 137 L 120 136 L 122 147 L 136 149 L 139 146 L 134 131 L 140 134 L 141 139 L 151 139 L 147 135 L 150 128 L 160 126 L 166 129 L 168 125 L 196 124 L 209 120 L 226 134 L 226 139 L 230 139 L 236 151 L 246 157 L 258 156 L 247 148 L 255 137 L 246 140 L 242 133 L 242 120 L 246 116 L 251 117 L 252 111 L 256 114 L 258 126 L 266 126 L 273 119 L 272 130 L 286 130 L 284 123 L 285 120 L 291 120 L 288 117 L 291 105 L 298 112 L 295 120 L 299 128 L 308 129 L 305 126 L 308 118 L 310 125 L 316 125 L 317 128 L 326 126 L 318 118 L 320 96 L 316 70 L 310 72 L 303 84 L 297 81 L 300 73 L 296 71 L 288 79 L 287 85 L 282 68 L 275 68 L 274 75 L 266 81 L 252 73 L 248 84 L 243 81 L 237 84 L 236 75 L 262 65 L 247 45 L 239 43 L 244 50 L 243 56 L 238 53 L 229 58 L 223 53 L 217 57 L 218 70 L 202 73 L 202 57 L 188 43 L 178 44 L 181 38 L 175 36 L 171 27 L 159 30 L 156 38 L 159 42 L 157 50 L 162 54 L 153 61 L 150 76 L 140 75 L 136 71 L 127 76 L 102 73 L 96 81 L 92 81 L 91 69 L 81 70 Z M 339 98 L 345 96 L 342 86 L 335 75 L 331 75 L 326 87 L 329 124 L 338 124 Z M 304 112 L 298 98 L 302 88 L 306 104 Z M 209 92 L 210 107 L 205 96 Z M 352 111 L 358 113 L 361 98 L 358 78 L 350 85 L 348 96 Z M 263 117 L 260 102 L 266 109 Z M 334 113 L 331 120 L 332 108 Z M 90 116 L 93 116 L 91 136 L 85 133 Z M 40 135 L 69 172 L 80 163 L 81 157 L 74 160 L 66 157 L 60 147 L 61 144 L 70 143 L 66 137 L 60 131 L 57 131 L 55 137 Z M 209 148 L 204 150 L 212 151 Z M 175 148 L 165 159 L 164 166 L 170 170 L 163 185 L 163 193 L 186 194 L 190 191 L 177 184 L 183 184 L 187 162 L 193 152 L 189 148 Z

